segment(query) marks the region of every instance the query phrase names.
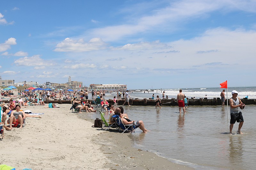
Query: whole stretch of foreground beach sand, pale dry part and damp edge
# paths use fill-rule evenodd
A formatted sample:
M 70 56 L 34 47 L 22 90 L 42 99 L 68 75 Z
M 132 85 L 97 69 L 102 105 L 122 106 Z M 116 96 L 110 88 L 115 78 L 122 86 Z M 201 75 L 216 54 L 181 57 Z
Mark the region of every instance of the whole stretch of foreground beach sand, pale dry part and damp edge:
M 129 133 L 92 128 L 93 121 L 86 117 L 86 112 L 70 113 L 71 104 L 59 104 L 59 107 L 22 108 L 44 115 L 42 119 L 26 118 L 25 128 L 4 131 L 0 164 L 17 170 L 193 169 L 133 148 Z

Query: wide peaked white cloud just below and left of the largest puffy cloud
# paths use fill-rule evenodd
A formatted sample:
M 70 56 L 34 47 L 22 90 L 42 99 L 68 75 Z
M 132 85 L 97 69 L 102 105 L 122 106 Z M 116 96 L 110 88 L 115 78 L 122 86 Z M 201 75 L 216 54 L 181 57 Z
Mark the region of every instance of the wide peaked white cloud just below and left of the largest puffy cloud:
M 14 61 L 17 66 L 44 66 L 44 65 L 53 65 L 46 60 L 40 58 L 40 55 L 33 55 L 32 57 L 23 57 Z

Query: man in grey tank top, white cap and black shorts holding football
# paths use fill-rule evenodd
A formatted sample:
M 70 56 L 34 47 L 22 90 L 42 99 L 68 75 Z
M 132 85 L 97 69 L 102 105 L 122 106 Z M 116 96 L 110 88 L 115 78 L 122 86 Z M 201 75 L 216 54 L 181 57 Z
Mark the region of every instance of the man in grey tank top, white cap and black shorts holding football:
M 230 126 L 229 126 L 229 133 L 232 134 L 232 129 L 235 122 L 239 122 L 237 134 L 241 134 L 241 128 L 244 123 L 244 118 L 242 112 L 240 112 L 240 107 L 243 107 L 244 104 L 242 103 L 241 99 L 237 97 L 239 92 L 233 90 L 231 92 L 232 97 L 229 99 L 229 106 L 230 106 Z

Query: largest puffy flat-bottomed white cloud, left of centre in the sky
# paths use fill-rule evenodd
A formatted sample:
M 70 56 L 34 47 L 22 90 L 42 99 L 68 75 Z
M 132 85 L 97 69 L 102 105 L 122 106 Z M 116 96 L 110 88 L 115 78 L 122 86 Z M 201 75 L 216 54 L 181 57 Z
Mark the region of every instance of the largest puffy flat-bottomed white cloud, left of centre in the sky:
M 105 49 L 107 44 L 100 38 L 92 38 L 89 42 L 83 39 L 72 40 L 66 38 L 64 41 L 56 45 L 54 51 L 57 52 L 84 52 Z

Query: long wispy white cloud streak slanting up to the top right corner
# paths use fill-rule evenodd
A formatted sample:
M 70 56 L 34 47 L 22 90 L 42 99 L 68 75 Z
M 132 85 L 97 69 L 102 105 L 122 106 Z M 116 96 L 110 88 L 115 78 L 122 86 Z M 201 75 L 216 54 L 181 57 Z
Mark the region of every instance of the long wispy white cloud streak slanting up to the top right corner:
M 156 1 L 158 3 L 158 1 Z M 152 3 L 152 2 L 151 2 Z M 162 2 L 163 3 L 163 2 Z M 159 4 L 159 3 L 158 3 Z M 141 15 L 136 10 L 144 8 L 145 4 L 136 4 L 137 8 L 132 8 L 134 12 L 125 15 L 126 23 L 122 25 L 105 26 L 85 32 L 84 36 L 100 37 L 104 41 L 116 41 L 124 37 L 139 35 L 144 33 L 159 32 L 168 34 L 181 29 L 181 25 L 207 18 L 213 11 L 225 13 L 227 11 L 246 10 L 255 12 L 256 3 L 254 0 L 247 1 L 223 1 L 223 0 L 182 0 L 170 1 L 170 4 L 163 5 L 160 8 L 156 4 L 156 8 L 148 11 L 148 14 Z M 140 6 L 141 5 L 141 6 Z M 138 16 L 131 15 L 138 13 Z M 208 15 L 209 14 L 209 15 Z M 199 19 L 198 19 L 199 18 Z M 139 35 L 140 36 L 140 35 Z

